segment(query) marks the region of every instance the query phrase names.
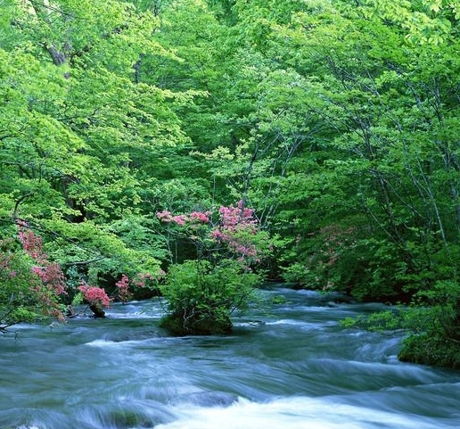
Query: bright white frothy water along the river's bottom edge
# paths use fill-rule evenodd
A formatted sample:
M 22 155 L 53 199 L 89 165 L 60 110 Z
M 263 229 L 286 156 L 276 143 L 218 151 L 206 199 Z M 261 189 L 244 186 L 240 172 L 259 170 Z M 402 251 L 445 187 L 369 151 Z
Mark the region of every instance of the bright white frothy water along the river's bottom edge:
M 181 404 L 177 420 L 155 429 L 439 429 L 451 427 L 423 417 L 408 417 L 330 400 L 294 397 L 267 403 L 240 399 L 230 407 Z

